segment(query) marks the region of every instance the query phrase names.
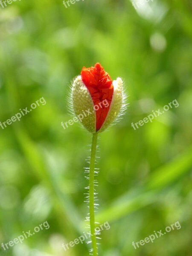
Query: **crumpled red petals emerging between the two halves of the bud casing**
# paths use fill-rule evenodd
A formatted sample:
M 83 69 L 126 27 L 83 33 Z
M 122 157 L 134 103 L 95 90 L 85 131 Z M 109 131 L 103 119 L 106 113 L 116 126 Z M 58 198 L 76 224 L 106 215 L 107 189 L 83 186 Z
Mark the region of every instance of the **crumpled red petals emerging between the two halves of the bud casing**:
M 113 81 L 100 63 L 96 63 L 95 67 L 83 67 L 81 70 L 81 79 L 90 92 L 94 106 L 99 106 L 99 108 L 95 107 L 96 131 L 99 131 L 105 122 L 113 98 Z M 108 107 L 102 104 L 105 99 L 109 104 Z

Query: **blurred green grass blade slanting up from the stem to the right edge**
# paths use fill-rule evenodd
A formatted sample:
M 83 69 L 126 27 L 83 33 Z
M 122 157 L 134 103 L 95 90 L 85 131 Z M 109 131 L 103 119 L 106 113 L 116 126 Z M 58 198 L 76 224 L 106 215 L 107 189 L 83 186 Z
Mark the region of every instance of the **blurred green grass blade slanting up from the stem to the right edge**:
M 149 181 L 137 189 L 135 195 L 131 192 L 125 193 L 116 199 L 107 209 L 101 210 L 96 215 L 96 221 L 104 223 L 105 221 L 116 221 L 119 218 L 137 211 L 148 204 L 157 201 L 159 198 L 156 189 L 163 189 L 170 183 L 186 174 L 192 167 L 192 148 L 188 148 L 172 162 L 160 167 L 155 171 Z

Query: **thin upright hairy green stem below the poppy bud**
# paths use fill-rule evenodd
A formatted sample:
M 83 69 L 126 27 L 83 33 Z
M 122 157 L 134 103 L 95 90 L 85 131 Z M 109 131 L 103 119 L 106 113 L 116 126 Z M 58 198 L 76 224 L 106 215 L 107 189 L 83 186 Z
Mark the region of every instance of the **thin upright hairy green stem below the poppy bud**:
M 97 133 L 93 134 L 90 156 L 90 169 L 89 169 L 89 213 L 90 213 L 90 232 L 91 242 L 93 249 L 93 256 L 97 256 L 97 244 L 95 234 L 95 208 L 94 208 L 94 172 L 95 172 L 95 158 L 97 147 Z

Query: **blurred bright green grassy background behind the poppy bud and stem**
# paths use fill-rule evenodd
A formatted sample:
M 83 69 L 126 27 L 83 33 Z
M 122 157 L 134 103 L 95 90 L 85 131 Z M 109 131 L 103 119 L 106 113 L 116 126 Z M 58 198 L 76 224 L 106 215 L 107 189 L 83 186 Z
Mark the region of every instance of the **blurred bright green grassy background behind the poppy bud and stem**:
M 87 256 L 86 244 L 64 251 L 84 231 L 84 167 L 91 135 L 71 117 L 67 90 L 83 66 L 100 62 L 122 77 L 128 110 L 99 136 L 100 256 L 192 256 L 192 2 L 19 1 L 0 6 L 0 244 L 41 230 L 0 256 Z M 178 108 L 139 129 L 132 122 L 177 99 Z M 137 242 L 180 222 L 153 243 Z

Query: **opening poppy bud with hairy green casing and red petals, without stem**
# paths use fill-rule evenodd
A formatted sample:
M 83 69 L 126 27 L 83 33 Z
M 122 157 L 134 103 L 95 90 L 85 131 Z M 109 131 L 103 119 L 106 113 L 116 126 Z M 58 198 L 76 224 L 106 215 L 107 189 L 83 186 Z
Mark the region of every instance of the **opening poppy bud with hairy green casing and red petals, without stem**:
M 73 81 L 73 112 L 91 133 L 102 132 L 122 113 L 125 105 L 122 79 L 112 81 L 100 63 L 82 68 Z

